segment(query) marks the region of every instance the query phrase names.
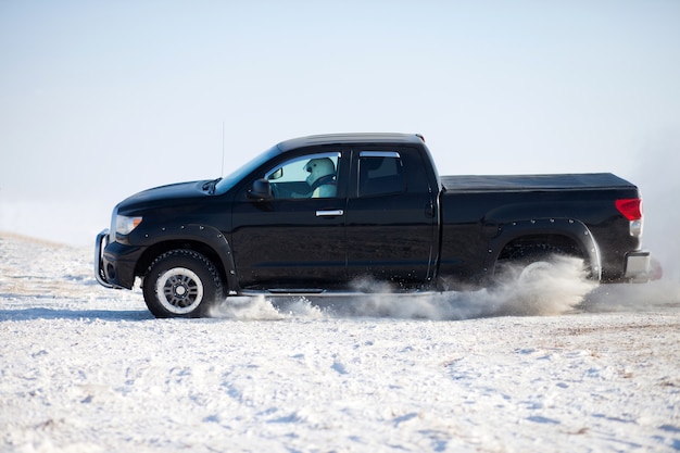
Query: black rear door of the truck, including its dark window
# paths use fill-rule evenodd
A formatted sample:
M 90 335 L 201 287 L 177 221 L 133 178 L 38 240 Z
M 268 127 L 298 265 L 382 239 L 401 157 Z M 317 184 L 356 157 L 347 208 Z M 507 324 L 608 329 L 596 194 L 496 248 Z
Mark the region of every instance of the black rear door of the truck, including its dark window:
M 437 205 L 420 153 L 365 147 L 352 156 L 347 206 L 348 276 L 405 286 L 435 273 Z

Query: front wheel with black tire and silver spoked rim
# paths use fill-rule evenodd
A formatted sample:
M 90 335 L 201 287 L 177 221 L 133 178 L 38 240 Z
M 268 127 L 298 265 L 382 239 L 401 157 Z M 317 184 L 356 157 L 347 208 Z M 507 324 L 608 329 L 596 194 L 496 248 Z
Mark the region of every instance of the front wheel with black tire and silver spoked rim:
M 171 250 L 149 266 L 142 284 L 144 302 L 159 318 L 201 317 L 222 300 L 224 288 L 213 263 L 193 250 Z

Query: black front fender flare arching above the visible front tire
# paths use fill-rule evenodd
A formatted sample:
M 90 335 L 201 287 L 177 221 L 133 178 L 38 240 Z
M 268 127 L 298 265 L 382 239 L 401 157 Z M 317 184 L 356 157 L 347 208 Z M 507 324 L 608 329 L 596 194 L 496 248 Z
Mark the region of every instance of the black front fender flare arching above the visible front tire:
M 238 278 L 231 246 L 225 235 L 217 228 L 202 224 L 184 224 L 146 230 L 142 244 L 147 248 L 144 256 L 154 255 L 150 257 L 150 260 L 153 260 L 155 255 L 160 254 L 158 250 L 165 249 L 163 244 L 168 242 L 199 242 L 205 246 L 205 248 L 209 248 L 214 256 L 218 257 L 225 269 L 229 292 L 238 290 Z M 200 252 L 201 250 L 198 249 L 197 251 Z M 147 260 L 140 260 L 140 263 L 146 261 Z

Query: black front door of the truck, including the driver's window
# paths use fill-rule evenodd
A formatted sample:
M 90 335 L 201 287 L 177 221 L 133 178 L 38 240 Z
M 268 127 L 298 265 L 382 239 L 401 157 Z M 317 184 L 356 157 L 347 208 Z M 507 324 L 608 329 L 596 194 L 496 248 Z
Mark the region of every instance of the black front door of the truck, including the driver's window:
M 273 199 L 237 196 L 232 250 L 241 288 L 315 289 L 347 282 L 341 151 L 273 163 Z M 245 190 L 251 187 L 251 183 Z

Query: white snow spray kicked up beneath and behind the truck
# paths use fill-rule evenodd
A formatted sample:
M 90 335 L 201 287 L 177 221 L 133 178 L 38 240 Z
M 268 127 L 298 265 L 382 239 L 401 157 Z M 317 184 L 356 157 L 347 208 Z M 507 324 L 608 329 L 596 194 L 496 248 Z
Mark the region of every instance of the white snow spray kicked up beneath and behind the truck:
M 290 317 L 392 317 L 469 319 L 490 316 L 546 316 L 575 310 L 596 284 L 582 260 L 555 256 L 550 265 L 516 269 L 513 278 L 477 291 L 393 292 L 382 282 L 357 281 L 363 293 L 344 298 L 230 297 L 211 315 L 239 320 Z

